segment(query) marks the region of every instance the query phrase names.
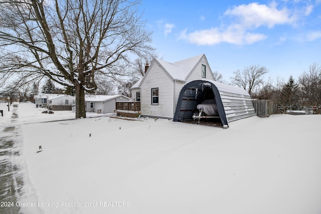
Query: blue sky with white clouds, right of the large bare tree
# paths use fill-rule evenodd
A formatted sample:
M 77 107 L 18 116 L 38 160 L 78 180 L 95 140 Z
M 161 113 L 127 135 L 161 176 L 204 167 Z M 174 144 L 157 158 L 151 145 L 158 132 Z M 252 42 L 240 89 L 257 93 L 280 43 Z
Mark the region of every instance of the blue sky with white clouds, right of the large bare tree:
M 140 5 L 158 58 L 176 62 L 205 54 L 229 81 L 250 65 L 265 78 L 296 80 L 321 63 L 321 0 L 148 1 Z

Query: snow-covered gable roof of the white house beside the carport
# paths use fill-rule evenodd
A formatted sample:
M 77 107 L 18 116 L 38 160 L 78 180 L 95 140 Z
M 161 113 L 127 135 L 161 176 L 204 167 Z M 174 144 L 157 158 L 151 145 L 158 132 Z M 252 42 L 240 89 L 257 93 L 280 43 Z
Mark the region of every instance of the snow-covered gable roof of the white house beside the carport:
M 180 60 L 174 63 L 169 63 L 164 60 L 154 58 L 148 70 L 153 66 L 153 64 L 157 63 L 162 68 L 162 70 L 170 77 L 170 79 L 184 82 L 184 81 L 187 81 L 188 77 L 191 75 L 191 73 L 194 71 L 195 67 L 199 64 L 199 62 L 202 60 L 203 57 L 207 61 L 205 54 L 191 57 L 185 60 Z M 147 73 L 146 75 L 148 75 L 148 70 L 146 72 Z M 131 87 L 131 89 L 139 88 L 139 86 L 145 79 L 146 75 L 140 78 Z

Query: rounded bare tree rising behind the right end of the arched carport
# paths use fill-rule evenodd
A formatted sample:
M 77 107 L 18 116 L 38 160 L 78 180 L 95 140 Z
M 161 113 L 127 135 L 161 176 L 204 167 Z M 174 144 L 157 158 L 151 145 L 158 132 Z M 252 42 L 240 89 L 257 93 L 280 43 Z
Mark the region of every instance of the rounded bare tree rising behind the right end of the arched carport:
M 250 95 L 263 83 L 264 74 L 268 73 L 268 69 L 260 65 L 251 65 L 245 67 L 243 71 L 237 70 L 233 72 L 231 77 L 232 84 L 244 88 Z

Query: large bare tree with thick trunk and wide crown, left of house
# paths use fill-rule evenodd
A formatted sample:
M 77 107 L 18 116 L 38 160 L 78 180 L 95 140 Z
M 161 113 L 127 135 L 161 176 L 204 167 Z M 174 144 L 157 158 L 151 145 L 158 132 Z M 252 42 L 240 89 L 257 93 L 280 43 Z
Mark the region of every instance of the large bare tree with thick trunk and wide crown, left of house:
M 129 56 L 154 49 L 139 0 L 0 0 L 0 59 L 3 79 L 25 72 L 75 88 L 76 118 L 86 117 L 85 91 L 95 75 L 126 75 Z

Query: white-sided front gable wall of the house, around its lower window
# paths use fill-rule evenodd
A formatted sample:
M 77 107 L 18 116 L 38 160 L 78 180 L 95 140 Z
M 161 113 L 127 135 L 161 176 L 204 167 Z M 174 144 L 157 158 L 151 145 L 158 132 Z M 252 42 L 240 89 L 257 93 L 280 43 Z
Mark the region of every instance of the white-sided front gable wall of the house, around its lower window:
M 141 86 L 140 109 L 142 115 L 173 118 L 173 81 L 154 64 Z M 158 105 L 151 105 L 151 89 L 158 88 Z

